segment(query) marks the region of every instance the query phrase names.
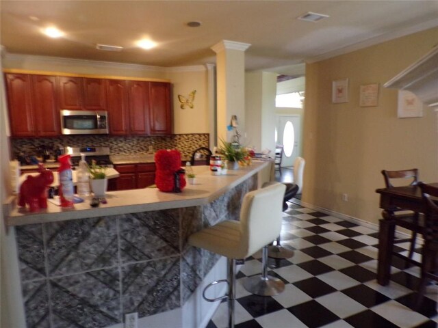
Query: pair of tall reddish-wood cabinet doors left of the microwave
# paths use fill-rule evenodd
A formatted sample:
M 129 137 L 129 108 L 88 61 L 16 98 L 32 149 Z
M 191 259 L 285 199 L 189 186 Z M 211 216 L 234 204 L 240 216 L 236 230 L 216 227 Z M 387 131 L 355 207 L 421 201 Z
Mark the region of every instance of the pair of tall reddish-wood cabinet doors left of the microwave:
M 8 109 L 13 137 L 60 135 L 56 77 L 6 74 Z

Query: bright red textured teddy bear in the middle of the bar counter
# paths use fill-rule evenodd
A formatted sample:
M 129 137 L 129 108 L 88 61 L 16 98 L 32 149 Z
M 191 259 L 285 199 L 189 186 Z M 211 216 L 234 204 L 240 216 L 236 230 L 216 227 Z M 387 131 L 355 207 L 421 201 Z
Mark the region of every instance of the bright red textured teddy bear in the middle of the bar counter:
M 181 153 L 178 150 L 158 150 L 155 153 L 155 184 L 160 191 L 180 193 L 185 187 Z

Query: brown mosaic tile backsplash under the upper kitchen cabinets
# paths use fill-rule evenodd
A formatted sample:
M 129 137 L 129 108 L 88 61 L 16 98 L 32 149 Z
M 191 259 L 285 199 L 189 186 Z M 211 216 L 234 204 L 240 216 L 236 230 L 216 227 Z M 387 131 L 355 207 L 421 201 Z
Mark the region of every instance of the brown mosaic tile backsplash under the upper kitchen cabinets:
M 159 149 L 178 149 L 181 156 L 191 156 L 199 147 L 209 146 L 208 133 L 185 135 L 166 135 L 157 137 L 112 137 L 109 135 L 65 135 L 56 138 L 23 138 L 11 139 L 12 156 L 16 158 L 20 152 L 27 156 L 38 154 L 38 148 L 47 146 L 55 150 L 61 147 L 110 147 L 113 155 L 142 154 Z

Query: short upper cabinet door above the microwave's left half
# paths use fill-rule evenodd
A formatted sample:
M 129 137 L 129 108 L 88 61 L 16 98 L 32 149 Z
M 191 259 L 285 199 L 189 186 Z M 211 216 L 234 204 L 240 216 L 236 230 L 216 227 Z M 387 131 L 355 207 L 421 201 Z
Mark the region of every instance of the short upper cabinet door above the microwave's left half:
M 60 90 L 60 109 L 79 111 L 82 109 L 82 79 L 81 77 L 58 77 Z

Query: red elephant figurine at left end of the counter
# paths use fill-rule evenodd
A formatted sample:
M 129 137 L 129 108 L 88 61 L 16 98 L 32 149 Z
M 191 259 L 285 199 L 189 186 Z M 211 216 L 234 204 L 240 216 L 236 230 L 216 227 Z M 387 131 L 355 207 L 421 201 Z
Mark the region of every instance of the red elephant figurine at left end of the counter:
M 27 176 L 20 187 L 18 206 L 25 207 L 29 204 L 31 212 L 47 208 L 47 188 L 53 183 L 53 172 L 45 169 L 42 164 L 38 171 L 38 176 Z

